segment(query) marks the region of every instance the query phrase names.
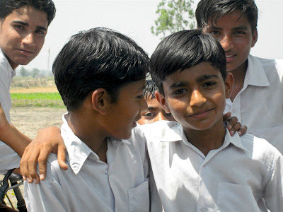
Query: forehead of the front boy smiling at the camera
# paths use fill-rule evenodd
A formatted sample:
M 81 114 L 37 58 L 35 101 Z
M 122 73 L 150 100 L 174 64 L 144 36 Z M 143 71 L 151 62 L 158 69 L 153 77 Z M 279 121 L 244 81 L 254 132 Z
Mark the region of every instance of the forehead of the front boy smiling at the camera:
M 202 83 L 202 81 L 209 78 L 222 79 L 222 76 L 219 69 L 209 64 L 209 62 L 202 62 L 183 71 L 171 73 L 163 81 L 163 88 L 164 90 L 173 90 L 178 87 Z

